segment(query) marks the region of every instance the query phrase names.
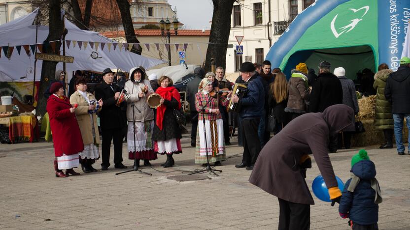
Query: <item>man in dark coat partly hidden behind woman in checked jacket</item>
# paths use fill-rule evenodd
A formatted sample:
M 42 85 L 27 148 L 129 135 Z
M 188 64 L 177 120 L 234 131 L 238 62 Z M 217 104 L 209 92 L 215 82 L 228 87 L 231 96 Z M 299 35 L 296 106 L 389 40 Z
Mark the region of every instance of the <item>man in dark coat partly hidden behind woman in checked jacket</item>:
M 195 147 L 197 141 L 197 128 L 198 128 L 198 112 L 195 109 L 195 94 L 198 92 L 199 83 L 205 76 L 205 70 L 201 67 L 194 69 L 194 79 L 188 82 L 186 86 L 186 100 L 189 102 L 189 110 L 191 112 L 191 146 Z

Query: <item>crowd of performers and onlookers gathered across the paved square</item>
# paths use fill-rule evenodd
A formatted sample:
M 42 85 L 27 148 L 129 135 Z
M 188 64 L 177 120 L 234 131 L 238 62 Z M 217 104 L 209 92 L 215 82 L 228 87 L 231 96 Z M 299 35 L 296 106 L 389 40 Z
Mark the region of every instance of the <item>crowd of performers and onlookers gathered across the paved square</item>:
M 331 63 L 322 61 L 316 76 L 306 63 L 299 63 L 287 80 L 279 68 L 272 69 L 268 60 L 262 65 L 243 62 L 236 80 L 246 87 L 241 98 L 232 92 L 233 84 L 225 78 L 222 67 L 216 68 L 216 74 L 196 68 L 193 80 L 187 85 L 195 164 L 222 165 L 226 159 L 225 146 L 231 145 L 227 106 L 229 102 L 236 103 L 240 108 L 235 117 L 243 156 L 235 167 L 251 170 L 249 181 L 278 198 L 279 229 L 309 228 L 309 205 L 314 204 L 305 182 L 306 171 L 311 168 L 309 154 L 315 157 L 330 199 L 333 203 L 342 199 L 342 218 L 349 217 L 356 228 L 377 228 L 376 207 L 381 197 L 374 178 L 376 170 L 367 153 L 361 151 L 352 158 L 352 179 L 346 183 L 343 196 L 328 156 L 329 152 L 336 152 L 343 146 L 350 148 L 350 139 L 356 130 L 355 115 L 359 113 L 354 82 L 346 77 L 343 67 L 335 68 L 333 73 L 331 67 Z M 164 168 L 175 164 L 173 154 L 182 153 L 181 128 L 175 116 L 175 111 L 181 109 L 178 90 L 172 86 L 170 77 L 157 79 L 155 74 L 147 77 L 143 67 L 133 68 L 129 73 L 129 80 L 124 74 L 117 74 L 117 84 L 113 84 L 115 73 L 105 69 L 103 83 L 95 89 L 95 96 L 87 91 L 86 79 L 78 76 L 72 84 L 75 90 L 69 88 L 72 92 L 68 98 L 62 84 L 65 73 L 56 72 L 47 101 L 56 177 L 79 174 L 73 170 L 79 164 L 84 173 L 96 172 L 92 165 L 100 155 L 102 170 L 107 170 L 111 141 L 114 144 L 114 167 L 127 168 L 122 163 L 124 137 L 129 159 L 137 159 L 136 167 L 139 167 L 139 160 L 143 160 L 144 166 L 151 166 L 150 161 L 157 159 L 157 154 L 167 156 L 161 165 Z M 372 83 L 376 93 L 374 124 L 384 134 L 380 148 L 393 148 L 394 134 L 398 154 L 404 155 L 404 119 L 410 130 L 410 105 L 406 101 L 410 97 L 410 58 L 402 58 L 395 72 L 387 64 L 381 64 Z M 372 93 L 372 90 L 366 90 Z M 119 103 L 121 92 L 125 102 Z M 147 101 L 153 93 L 160 97 L 156 109 L 152 109 Z M 371 173 L 360 173 L 363 169 Z M 355 198 L 355 189 L 367 192 Z M 375 202 L 349 206 L 352 199 L 374 196 Z M 368 209 L 371 216 L 363 217 L 355 213 L 355 208 Z

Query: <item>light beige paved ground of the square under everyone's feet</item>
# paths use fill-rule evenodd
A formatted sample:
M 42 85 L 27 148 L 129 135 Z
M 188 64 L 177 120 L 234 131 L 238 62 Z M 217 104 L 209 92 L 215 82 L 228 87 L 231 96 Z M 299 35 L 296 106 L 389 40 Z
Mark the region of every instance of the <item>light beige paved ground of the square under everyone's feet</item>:
M 174 157 L 173 168 L 160 166 L 165 156 L 152 161 L 153 169 L 140 168 L 152 176 L 137 172 L 115 175 L 121 171 L 111 165 L 104 172 L 86 174 L 77 169 L 79 176 L 56 178 L 52 144 L 0 144 L 0 229 L 277 229 L 277 199 L 251 185 L 249 171 L 234 167 L 241 160 L 236 155 L 242 153 L 242 147 L 233 143 L 227 147 L 231 158 L 217 167 L 223 171 L 219 177 L 187 182 L 167 179 L 184 175 L 181 171 L 201 169 L 194 165 L 195 149 L 186 135 L 183 154 Z M 376 164 L 383 197 L 379 228 L 410 230 L 410 155 L 399 156 L 395 149 L 376 146 L 367 149 Z M 330 155 L 343 181 L 349 178 L 350 159 L 357 151 L 340 150 Z M 123 157 L 125 165 L 133 165 L 126 144 Z M 101 160 L 95 168 L 101 169 L 100 164 Z M 313 163 L 308 185 L 318 174 Z M 331 207 L 316 198 L 315 202 L 311 229 L 348 229 L 337 205 Z

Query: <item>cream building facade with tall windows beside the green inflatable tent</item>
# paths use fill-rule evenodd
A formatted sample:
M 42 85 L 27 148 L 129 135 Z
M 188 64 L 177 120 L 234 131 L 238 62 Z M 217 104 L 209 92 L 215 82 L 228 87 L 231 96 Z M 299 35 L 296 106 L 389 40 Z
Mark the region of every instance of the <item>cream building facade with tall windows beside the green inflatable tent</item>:
M 242 62 L 261 64 L 271 46 L 295 17 L 314 0 L 239 0 L 234 3 L 226 54 L 227 75 L 238 76 Z M 236 36 L 243 36 L 237 54 Z M 272 66 L 274 68 L 276 66 Z

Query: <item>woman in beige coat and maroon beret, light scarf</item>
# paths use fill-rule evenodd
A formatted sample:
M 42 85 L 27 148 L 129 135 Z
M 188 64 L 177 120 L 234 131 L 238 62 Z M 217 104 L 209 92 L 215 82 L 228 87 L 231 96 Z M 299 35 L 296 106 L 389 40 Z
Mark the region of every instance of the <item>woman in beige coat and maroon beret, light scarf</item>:
M 79 153 L 81 169 L 84 173 L 97 172 L 93 164 L 100 158 L 100 133 L 97 126 L 96 112 L 102 109 L 102 100 L 97 101 L 93 94 L 87 92 L 87 80 L 84 77 L 75 79 L 75 91 L 70 96 L 71 105 L 77 104 L 75 116 L 81 131 L 84 151 Z

